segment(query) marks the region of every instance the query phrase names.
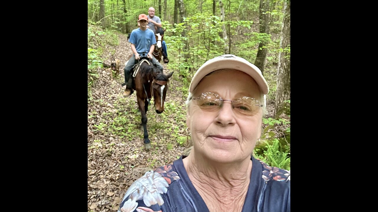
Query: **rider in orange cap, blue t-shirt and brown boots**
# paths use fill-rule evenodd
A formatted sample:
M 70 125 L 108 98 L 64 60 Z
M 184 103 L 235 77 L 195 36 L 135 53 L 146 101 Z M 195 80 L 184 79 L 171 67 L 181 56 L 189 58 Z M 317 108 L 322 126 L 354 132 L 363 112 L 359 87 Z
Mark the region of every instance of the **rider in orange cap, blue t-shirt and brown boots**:
M 163 66 L 161 66 L 161 64 L 155 59 L 155 57 L 152 57 L 152 52 L 155 49 L 156 39 L 153 31 L 147 28 L 147 15 L 140 14 L 138 18 L 138 24 L 140 25 L 139 28 L 134 29 L 131 32 L 129 39 L 129 42 L 131 43 L 131 49 L 133 51 L 133 56 L 130 58 L 124 68 L 126 84 L 126 89 L 123 92 L 124 97 L 130 96 L 130 94 L 132 93 L 131 69 L 141 57 L 147 57 L 152 60 L 152 63 L 156 64 L 160 71 L 163 72 Z

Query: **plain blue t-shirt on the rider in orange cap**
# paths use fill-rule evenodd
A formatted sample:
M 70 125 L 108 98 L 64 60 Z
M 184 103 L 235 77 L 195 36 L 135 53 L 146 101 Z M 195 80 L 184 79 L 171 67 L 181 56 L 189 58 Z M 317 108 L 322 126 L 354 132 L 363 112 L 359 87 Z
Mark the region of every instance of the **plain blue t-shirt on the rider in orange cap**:
M 145 31 L 140 28 L 134 29 L 131 32 L 129 42 L 135 45 L 138 54 L 142 54 L 143 52 L 147 54 L 151 46 L 156 43 L 155 34 L 148 28 Z

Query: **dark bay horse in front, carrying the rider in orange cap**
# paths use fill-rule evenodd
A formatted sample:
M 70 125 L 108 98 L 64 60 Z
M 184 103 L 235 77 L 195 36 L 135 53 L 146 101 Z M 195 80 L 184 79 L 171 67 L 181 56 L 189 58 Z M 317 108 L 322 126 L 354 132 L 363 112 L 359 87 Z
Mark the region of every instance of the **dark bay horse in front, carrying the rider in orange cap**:
M 153 97 L 157 114 L 164 111 L 164 101 L 168 90 L 169 78 L 173 72 L 164 75 L 156 65 L 153 65 L 148 58 L 140 59 L 139 68 L 134 70 L 134 84 L 139 111 L 141 112 L 142 125 L 144 130 L 144 148 L 150 149 L 151 143 L 147 132 L 147 110 L 150 99 Z

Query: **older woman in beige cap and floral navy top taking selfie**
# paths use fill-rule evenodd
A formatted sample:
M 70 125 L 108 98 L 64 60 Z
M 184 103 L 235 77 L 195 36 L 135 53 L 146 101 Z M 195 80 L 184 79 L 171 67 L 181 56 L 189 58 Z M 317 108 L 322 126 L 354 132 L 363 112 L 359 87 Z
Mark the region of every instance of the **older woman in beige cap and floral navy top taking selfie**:
M 243 58 L 227 54 L 204 63 L 187 98 L 190 154 L 146 172 L 118 211 L 290 211 L 290 172 L 251 156 L 268 92 L 259 68 Z

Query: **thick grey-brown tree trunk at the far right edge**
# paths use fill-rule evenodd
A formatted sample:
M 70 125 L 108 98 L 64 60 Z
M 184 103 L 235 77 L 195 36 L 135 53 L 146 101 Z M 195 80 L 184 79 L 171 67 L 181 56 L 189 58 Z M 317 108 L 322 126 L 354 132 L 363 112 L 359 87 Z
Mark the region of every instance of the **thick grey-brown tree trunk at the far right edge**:
M 277 71 L 277 92 L 276 105 L 274 106 L 274 117 L 278 117 L 285 111 L 287 105 L 285 100 L 290 100 L 290 0 L 285 1 L 285 13 L 283 16 L 278 71 Z

